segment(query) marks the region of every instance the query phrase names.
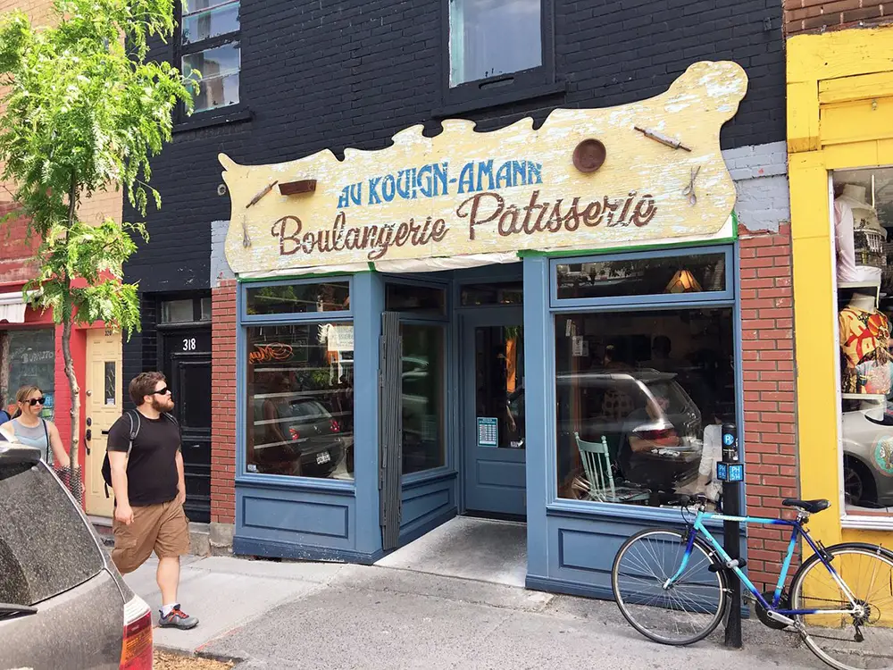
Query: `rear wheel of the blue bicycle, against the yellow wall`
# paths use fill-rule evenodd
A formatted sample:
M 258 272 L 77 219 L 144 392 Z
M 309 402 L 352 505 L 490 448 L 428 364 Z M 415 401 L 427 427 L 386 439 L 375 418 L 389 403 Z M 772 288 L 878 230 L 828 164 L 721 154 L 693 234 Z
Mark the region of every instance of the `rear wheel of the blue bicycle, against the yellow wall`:
M 893 669 L 893 553 L 857 542 L 825 551 L 833 573 L 814 554 L 790 584 L 791 608 L 815 610 L 794 617 L 806 646 L 838 670 Z

